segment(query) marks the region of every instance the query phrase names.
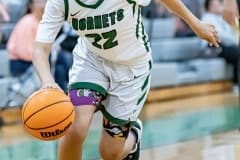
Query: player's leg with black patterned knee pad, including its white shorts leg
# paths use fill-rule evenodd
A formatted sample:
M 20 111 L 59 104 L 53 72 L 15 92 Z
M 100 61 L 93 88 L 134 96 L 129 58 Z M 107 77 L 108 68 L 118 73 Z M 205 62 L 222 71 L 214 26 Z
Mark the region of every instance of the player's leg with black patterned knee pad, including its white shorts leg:
M 130 68 L 113 66 L 112 83 L 105 108 L 100 153 L 104 160 L 137 160 L 141 139 L 141 122 L 137 117 L 149 91 L 148 64 Z M 120 70 L 117 70 L 120 68 Z M 111 72 L 111 71 L 109 71 Z

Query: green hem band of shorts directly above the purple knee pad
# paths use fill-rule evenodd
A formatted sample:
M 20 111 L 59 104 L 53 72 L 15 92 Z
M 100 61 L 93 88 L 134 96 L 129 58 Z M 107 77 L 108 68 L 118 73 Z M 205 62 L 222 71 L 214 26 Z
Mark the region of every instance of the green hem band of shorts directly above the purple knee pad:
M 99 92 L 102 96 L 107 96 L 107 91 L 100 85 L 90 82 L 76 82 L 69 85 L 69 90 L 73 89 L 92 89 Z

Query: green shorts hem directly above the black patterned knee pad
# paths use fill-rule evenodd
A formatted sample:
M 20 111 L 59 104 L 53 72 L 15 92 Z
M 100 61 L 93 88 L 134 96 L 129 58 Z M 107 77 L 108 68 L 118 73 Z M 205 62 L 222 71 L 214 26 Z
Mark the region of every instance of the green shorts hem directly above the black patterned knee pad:
M 109 120 L 110 122 L 117 124 L 119 126 L 125 126 L 126 124 L 130 124 L 130 126 L 135 125 L 135 121 L 123 120 L 119 118 L 113 117 L 110 113 L 106 111 L 105 108 L 101 109 L 103 116 Z

